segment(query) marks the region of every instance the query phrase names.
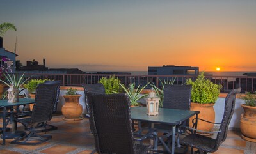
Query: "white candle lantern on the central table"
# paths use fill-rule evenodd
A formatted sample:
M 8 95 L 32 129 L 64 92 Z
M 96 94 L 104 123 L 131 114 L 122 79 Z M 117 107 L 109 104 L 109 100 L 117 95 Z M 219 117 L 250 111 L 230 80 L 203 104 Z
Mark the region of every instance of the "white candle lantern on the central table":
M 149 95 L 145 98 L 147 105 L 147 114 L 148 116 L 158 115 L 158 105 L 160 98 L 156 96 L 154 90 L 151 90 Z

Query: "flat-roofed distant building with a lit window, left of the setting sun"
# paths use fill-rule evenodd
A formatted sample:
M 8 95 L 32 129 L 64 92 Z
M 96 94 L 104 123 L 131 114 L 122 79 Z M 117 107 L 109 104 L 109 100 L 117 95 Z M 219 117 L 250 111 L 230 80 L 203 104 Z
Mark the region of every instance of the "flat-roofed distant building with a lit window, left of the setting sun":
M 148 75 L 198 75 L 199 67 L 163 65 L 163 67 L 148 67 Z

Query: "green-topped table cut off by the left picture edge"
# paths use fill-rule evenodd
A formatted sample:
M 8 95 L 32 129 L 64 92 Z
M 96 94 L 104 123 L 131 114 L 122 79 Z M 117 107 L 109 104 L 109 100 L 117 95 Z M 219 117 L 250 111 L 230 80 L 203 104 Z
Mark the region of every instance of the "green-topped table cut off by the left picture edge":
M 11 134 L 16 133 L 17 123 L 14 121 L 15 112 L 13 111 L 14 107 L 19 109 L 20 105 L 33 104 L 35 103 L 35 99 L 31 98 L 19 98 L 19 102 L 17 103 L 8 103 L 7 100 L 0 100 L 0 107 L 3 108 L 3 145 L 5 145 L 6 139 L 6 108 L 10 107 L 10 123 L 13 124 Z

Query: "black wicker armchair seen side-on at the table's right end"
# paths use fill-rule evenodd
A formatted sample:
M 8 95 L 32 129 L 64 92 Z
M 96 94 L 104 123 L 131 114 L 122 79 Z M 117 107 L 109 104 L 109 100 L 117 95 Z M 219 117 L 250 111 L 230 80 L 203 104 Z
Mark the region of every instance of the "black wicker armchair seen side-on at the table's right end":
M 180 126 L 181 127 L 181 129 L 179 128 L 180 133 L 184 132 L 183 131 L 184 128 L 188 128 L 193 133 L 187 135 L 183 139 L 180 139 L 180 134 L 179 134 L 179 137 L 177 140 L 178 146 L 180 146 L 180 144 L 191 146 L 191 154 L 193 153 L 193 148 L 197 148 L 198 150 L 195 153 L 200 153 L 200 154 L 209 153 L 209 152 L 213 153 L 217 151 L 220 144 L 224 142 L 227 137 L 228 125 L 234 113 L 234 107 L 236 104 L 236 94 L 240 92 L 241 92 L 241 88 L 234 89 L 230 93 L 228 93 L 228 95 L 226 96 L 223 119 L 221 123 L 216 123 L 216 124 L 220 124 L 220 128 L 218 131 L 211 132 L 211 133 L 218 133 L 216 139 L 212 139 L 211 137 L 207 137 L 200 134 L 195 134 L 195 132 L 203 132 L 203 131 L 198 131 L 194 128 L 189 128 L 186 126 Z M 203 120 L 203 119 L 198 119 L 198 120 Z M 205 121 L 205 122 L 209 122 L 209 121 Z

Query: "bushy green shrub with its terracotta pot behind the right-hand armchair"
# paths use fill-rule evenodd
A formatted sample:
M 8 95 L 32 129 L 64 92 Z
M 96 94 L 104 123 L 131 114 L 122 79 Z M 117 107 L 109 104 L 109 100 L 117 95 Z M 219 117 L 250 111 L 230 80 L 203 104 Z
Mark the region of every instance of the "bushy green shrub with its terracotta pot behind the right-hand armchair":
M 198 118 L 212 122 L 211 124 L 204 121 L 198 121 L 197 128 L 199 130 L 210 132 L 214 127 L 213 123 L 215 122 L 215 111 L 213 105 L 220 94 L 220 89 L 222 86 L 219 84 L 214 84 L 209 79 L 206 79 L 204 77 L 204 72 L 198 75 L 195 81 L 187 79 L 186 84 L 192 86 L 191 111 L 200 111 Z M 193 118 L 190 118 L 190 127 L 193 125 L 191 121 Z

